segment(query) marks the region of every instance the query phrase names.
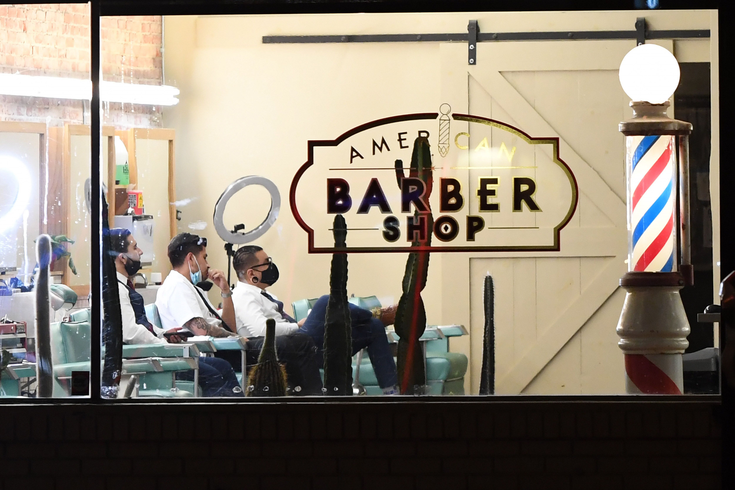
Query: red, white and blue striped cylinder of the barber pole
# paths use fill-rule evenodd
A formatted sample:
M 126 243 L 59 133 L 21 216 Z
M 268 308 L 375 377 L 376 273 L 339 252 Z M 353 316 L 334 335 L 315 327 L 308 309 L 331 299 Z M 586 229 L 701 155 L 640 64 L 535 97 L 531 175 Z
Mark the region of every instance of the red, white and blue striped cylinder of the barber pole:
M 628 136 L 628 270 L 675 270 L 675 139 Z

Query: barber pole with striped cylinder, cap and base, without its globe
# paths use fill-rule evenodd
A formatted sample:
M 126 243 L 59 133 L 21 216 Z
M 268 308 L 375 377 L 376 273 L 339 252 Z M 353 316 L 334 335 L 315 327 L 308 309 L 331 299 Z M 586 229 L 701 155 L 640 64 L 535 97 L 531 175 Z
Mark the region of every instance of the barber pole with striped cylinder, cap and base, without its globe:
M 630 394 L 684 392 L 681 355 L 689 346 L 689 321 L 679 290 L 693 282 L 686 148 L 692 125 L 668 118 L 668 106 L 632 102 L 634 118 L 620 123 L 627 147 L 628 273 L 620 279 L 626 294 L 617 334 Z

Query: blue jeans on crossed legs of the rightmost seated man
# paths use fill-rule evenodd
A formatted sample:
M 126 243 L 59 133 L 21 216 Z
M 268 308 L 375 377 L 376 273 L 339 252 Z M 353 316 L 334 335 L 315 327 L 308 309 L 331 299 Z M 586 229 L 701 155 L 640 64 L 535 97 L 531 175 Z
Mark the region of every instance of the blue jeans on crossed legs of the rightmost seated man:
M 317 300 L 309 316 L 306 317 L 301 331 L 314 339 L 317 346 L 319 367 L 324 364 L 324 318 L 329 295 Z M 375 376 L 381 388 L 390 388 L 398 383 L 395 371 L 395 359 L 388 345 L 385 326 L 373 313 L 350 303 L 350 320 L 352 323 L 352 355 L 367 348 L 370 363 L 373 364 Z

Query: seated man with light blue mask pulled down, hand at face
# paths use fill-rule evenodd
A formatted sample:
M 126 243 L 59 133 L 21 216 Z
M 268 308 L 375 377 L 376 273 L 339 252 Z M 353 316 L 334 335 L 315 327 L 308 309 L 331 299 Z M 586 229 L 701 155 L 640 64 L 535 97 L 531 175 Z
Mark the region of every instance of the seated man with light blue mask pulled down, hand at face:
M 196 335 L 232 336 L 235 330 L 232 292 L 221 270 L 207 263 L 207 239 L 181 233 L 168 244 L 171 273 L 157 293 L 156 306 L 164 328 L 181 326 Z M 221 289 L 223 308 L 218 312 L 207 298 L 212 282 Z M 265 320 L 263 327 L 265 328 Z M 245 340 L 248 366 L 257 364 L 264 337 L 240 334 Z M 316 361 L 316 347 L 311 337 L 293 334 L 276 337 L 276 354 L 286 366 L 291 394 L 322 394 L 322 383 Z M 221 350 L 215 356 L 226 359 L 234 369 L 241 369 L 240 352 Z

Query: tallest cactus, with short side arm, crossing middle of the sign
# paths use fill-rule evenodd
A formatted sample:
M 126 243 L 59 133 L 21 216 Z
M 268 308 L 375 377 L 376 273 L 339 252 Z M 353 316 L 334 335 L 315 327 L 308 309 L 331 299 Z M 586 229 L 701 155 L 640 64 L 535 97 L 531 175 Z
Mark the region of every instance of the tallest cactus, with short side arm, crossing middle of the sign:
M 417 137 L 414 141 L 409 177 L 423 181 L 426 192 L 424 201 L 429 206 L 429 196 L 433 184 L 431 168 L 431 148 L 428 137 Z M 404 179 L 403 162 L 395 161 L 395 178 L 398 187 Z M 431 216 L 431 206 L 428 212 L 414 213 L 414 220 L 420 216 L 426 217 L 426 237 L 422 240 L 417 237 L 412 247 L 428 247 L 431 245 L 431 230 L 434 220 Z M 409 253 L 404 273 L 403 294 L 398 301 L 398 310 L 395 312 L 395 332 L 400 336 L 398 340 L 398 382 L 401 383 L 402 394 L 414 394 L 426 385 L 423 350 L 419 338 L 426 330 L 426 309 L 421 299 L 421 291 L 426 287 L 426 277 L 429 273 L 429 252 L 420 251 Z

